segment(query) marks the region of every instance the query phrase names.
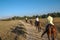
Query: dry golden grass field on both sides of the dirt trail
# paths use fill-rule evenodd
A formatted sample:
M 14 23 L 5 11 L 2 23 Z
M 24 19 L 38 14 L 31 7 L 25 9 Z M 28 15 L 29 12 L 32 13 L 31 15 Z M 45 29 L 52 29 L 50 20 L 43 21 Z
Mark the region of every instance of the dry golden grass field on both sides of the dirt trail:
M 33 20 L 34 21 L 34 20 Z M 40 19 L 42 26 L 46 26 L 46 19 Z M 12 21 L 0 21 L 0 37 L 5 40 L 7 37 L 10 38 L 7 34 L 7 32 L 12 28 L 13 26 L 16 26 L 19 24 L 19 20 L 12 20 Z M 58 38 L 60 39 L 60 18 L 54 18 L 54 24 L 58 30 Z M 14 38 L 12 35 L 11 38 Z M 7 39 L 7 40 L 11 40 Z

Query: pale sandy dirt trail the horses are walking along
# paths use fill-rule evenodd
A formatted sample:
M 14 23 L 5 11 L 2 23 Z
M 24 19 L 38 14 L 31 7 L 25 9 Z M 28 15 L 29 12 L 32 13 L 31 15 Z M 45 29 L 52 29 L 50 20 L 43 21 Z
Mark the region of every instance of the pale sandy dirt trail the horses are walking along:
M 36 28 L 29 23 L 25 23 L 20 20 L 22 24 L 24 24 L 25 28 L 27 29 L 28 35 L 26 40 L 48 40 L 46 34 L 43 38 L 41 38 L 42 30 L 41 32 L 37 32 Z

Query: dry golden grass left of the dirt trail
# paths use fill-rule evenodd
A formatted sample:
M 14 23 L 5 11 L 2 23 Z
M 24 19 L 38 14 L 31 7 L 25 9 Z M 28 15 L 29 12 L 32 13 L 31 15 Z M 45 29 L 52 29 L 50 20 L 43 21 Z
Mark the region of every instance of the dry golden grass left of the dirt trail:
M 11 40 L 14 38 L 14 35 L 11 35 L 10 28 L 16 26 L 19 23 L 18 20 L 12 20 L 12 21 L 0 21 L 0 37 L 2 40 Z M 10 38 L 10 39 L 7 39 Z

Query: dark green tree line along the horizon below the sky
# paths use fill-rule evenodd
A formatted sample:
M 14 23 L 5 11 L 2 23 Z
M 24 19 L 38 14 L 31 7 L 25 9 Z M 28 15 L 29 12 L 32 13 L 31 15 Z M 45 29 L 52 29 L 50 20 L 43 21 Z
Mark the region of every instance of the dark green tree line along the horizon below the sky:
M 54 13 L 48 13 L 50 14 L 52 17 L 60 17 L 60 12 L 54 12 Z M 46 18 L 48 16 L 48 14 L 43 14 L 43 15 L 38 15 L 39 18 Z M 6 20 L 21 20 L 21 19 L 25 19 L 25 18 L 28 18 L 28 19 L 35 19 L 36 15 L 33 15 L 33 16 L 23 16 L 23 17 L 20 17 L 20 16 L 14 16 L 14 17 L 11 17 L 11 18 L 6 18 L 6 19 L 2 19 L 3 21 Z

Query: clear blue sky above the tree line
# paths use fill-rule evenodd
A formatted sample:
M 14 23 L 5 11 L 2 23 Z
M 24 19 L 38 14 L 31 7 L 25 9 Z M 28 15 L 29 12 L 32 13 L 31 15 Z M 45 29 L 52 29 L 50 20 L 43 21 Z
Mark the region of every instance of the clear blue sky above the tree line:
M 0 18 L 60 12 L 60 0 L 0 0 Z

